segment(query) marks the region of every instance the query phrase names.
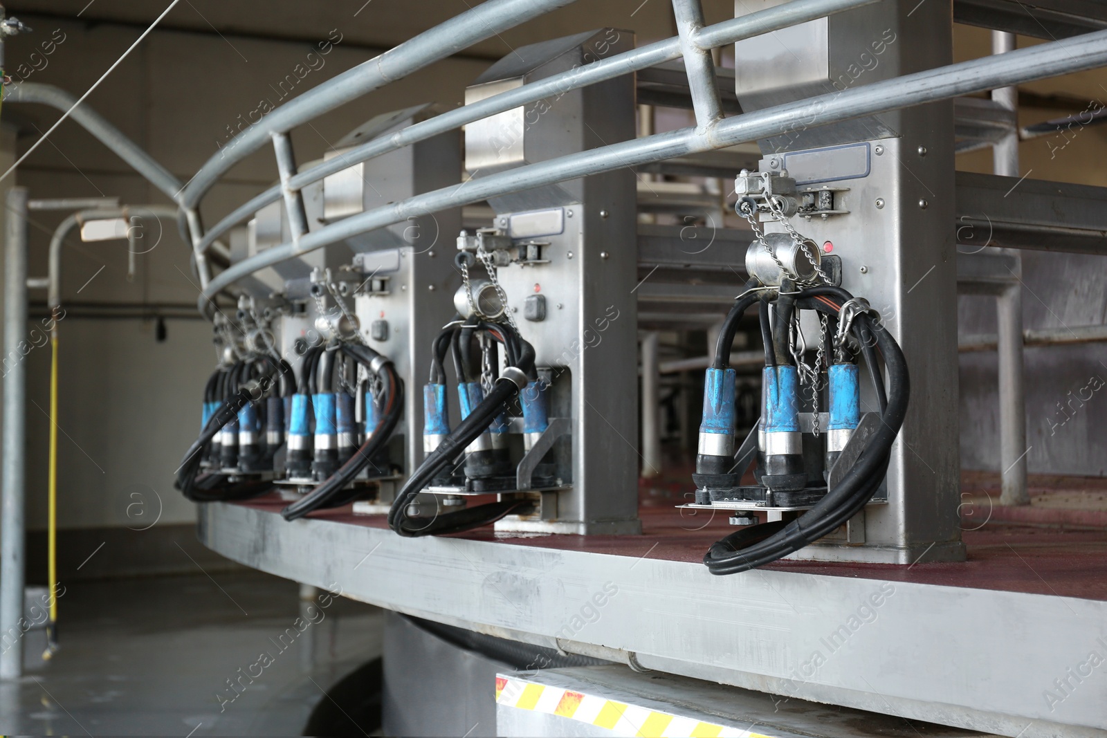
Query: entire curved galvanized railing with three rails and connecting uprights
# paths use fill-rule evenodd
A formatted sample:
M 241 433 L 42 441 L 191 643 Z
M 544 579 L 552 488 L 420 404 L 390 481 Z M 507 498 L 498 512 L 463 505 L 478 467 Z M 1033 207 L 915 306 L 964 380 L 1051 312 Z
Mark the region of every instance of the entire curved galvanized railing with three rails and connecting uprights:
M 197 173 L 177 199 L 188 225 L 204 288 L 198 300 L 200 310 L 210 314 L 210 300 L 218 292 L 258 269 L 323 248 L 356 233 L 403 221 L 412 215 L 468 205 L 497 195 L 625 166 L 757 141 L 796 126 L 821 126 L 1107 64 L 1107 31 L 1096 31 L 1031 49 L 907 74 L 841 93 L 819 95 L 725 118 L 715 84 L 714 65 L 704 63 L 712 49 L 859 8 L 877 0 L 796 0 L 713 25 L 703 24 L 699 0 L 674 0 L 673 8 L 680 33 L 677 37 L 490 96 L 480 103 L 415 124 L 387 137 L 371 141 L 343 157 L 337 157 L 304 171 L 294 170 L 286 137 L 294 126 L 427 64 L 445 59 L 459 49 L 568 4 L 570 1 L 489 0 L 282 105 L 232 139 L 219 155 L 214 156 Z M 282 197 L 294 201 L 299 197 L 300 188 L 329 174 L 424 137 L 541 100 L 551 93 L 587 86 L 680 58 L 685 60 L 692 92 L 696 114 L 694 127 L 604 146 L 500 173 L 479 181 L 464 183 L 464 186 L 459 184 L 458 187 L 443 188 L 369 210 L 312 233 L 293 231 L 291 241 L 241 261 L 217 277 L 210 276 L 206 252 L 219 236 L 252 215 L 260 206 Z M 247 155 L 261 148 L 267 141 L 273 142 L 282 174 L 281 184 L 236 209 L 205 232 L 198 215 L 198 206 L 205 194 L 224 173 Z

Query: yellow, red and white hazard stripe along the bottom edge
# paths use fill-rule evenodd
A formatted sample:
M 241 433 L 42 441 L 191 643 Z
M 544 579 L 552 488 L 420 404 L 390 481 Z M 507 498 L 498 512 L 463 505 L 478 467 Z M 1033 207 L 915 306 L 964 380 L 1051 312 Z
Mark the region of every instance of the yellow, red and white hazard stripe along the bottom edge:
M 643 738 L 773 738 L 761 732 L 651 710 L 561 687 L 520 678 L 496 677 L 496 703 L 521 710 L 558 715 L 607 728 L 619 736 Z

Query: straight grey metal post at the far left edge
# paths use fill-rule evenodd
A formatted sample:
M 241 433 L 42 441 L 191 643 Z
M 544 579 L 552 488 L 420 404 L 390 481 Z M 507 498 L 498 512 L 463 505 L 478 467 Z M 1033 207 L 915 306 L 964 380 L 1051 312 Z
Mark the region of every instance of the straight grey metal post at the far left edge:
M 0 679 L 23 674 L 24 427 L 27 367 L 27 188 L 8 193 L 4 235 L 3 482 L 0 490 Z

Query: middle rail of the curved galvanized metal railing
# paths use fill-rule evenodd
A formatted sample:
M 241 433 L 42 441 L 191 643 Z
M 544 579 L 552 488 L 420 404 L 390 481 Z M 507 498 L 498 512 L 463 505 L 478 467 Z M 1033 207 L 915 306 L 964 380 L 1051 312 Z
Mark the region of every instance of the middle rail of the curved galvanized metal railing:
M 759 10 L 748 15 L 742 15 L 716 25 L 701 29 L 693 37 L 695 43 L 703 48 L 720 46 L 748 39 L 763 33 L 778 31 L 795 23 L 816 20 L 826 15 L 861 8 L 878 0 L 795 0 L 776 8 Z M 706 39 L 706 41 L 704 41 Z M 710 43 L 711 45 L 704 45 Z M 289 178 L 292 189 L 302 189 L 319 181 L 323 177 L 337 174 L 355 164 L 368 162 L 377 156 L 426 141 L 438 134 L 459 128 L 463 125 L 480 121 L 490 115 L 509 111 L 527 103 L 534 103 L 550 95 L 561 95 L 571 90 L 587 87 L 597 82 L 613 80 L 624 74 L 644 70 L 656 64 L 663 64 L 681 58 L 681 40 L 677 37 L 658 41 L 632 51 L 597 60 L 583 66 L 571 69 L 560 74 L 531 82 L 520 87 L 501 92 L 476 103 L 465 105 L 407 126 L 402 131 L 373 138 L 360 146 L 318 164 Z M 254 217 L 258 210 L 281 199 L 280 185 L 275 185 L 248 202 L 235 208 L 230 215 L 211 227 L 200 239 L 198 249 L 205 250 L 217 238 L 229 231 L 237 224 Z

